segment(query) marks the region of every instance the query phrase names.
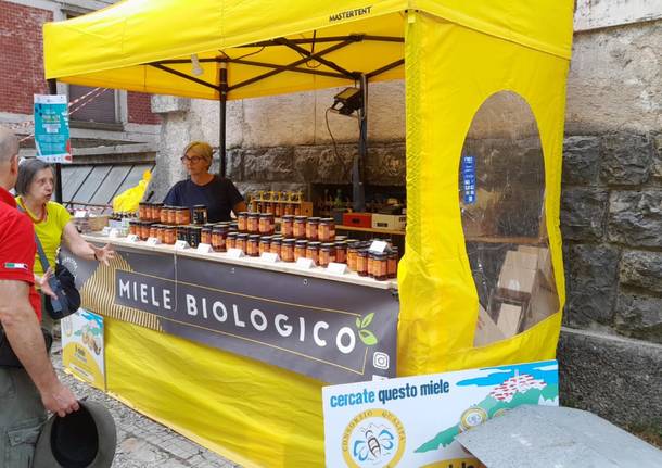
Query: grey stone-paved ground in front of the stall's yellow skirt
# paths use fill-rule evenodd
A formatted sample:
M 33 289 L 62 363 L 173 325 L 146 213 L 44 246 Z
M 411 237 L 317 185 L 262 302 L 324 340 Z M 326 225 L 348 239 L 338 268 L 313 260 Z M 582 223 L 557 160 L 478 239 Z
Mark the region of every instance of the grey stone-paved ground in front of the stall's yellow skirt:
M 59 377 L 76 395 L 87 395 L 89 400 L 101 402 L 113 414 L 117 426 L 117 452 L 113 468 L 241 468 L 64 374 L 60 342 L 53 343 L 52 355 Z

